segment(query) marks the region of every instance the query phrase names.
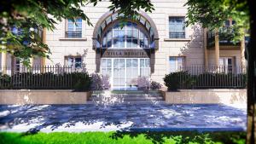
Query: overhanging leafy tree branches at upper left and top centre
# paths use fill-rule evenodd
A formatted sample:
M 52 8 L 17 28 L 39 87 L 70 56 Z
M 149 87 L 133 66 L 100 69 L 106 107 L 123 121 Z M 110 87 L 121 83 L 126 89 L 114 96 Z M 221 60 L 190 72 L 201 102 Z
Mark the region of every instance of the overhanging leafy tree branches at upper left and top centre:
M 29 66 L 33 56 L 49 58 L 50 49 L 40 37 L 44 28 L 55 29 L 55 23 L 62 19 L 74 20 L 80 17 L 92 26 L 81 7 L 88 3 L 96 5 L 102 0 L 8 0 L 0 2 L 0 52 L 7 52 L 20 58 Z M 132 17 L 144 9 L 151 12 L 149 0 L 110 0 L 110 10 L 119 9 L 125 17 Z M 15 31 L 14 31 L 15 30 Z

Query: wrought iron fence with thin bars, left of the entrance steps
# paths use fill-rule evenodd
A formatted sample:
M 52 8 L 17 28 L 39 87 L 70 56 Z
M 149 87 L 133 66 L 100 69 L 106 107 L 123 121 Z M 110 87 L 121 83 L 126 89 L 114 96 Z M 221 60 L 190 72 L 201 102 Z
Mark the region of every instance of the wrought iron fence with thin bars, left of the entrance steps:
M 0 70 L 0 89 L 73 89 L 75 73 L 84 72 L 72 66 L 19 66 Z

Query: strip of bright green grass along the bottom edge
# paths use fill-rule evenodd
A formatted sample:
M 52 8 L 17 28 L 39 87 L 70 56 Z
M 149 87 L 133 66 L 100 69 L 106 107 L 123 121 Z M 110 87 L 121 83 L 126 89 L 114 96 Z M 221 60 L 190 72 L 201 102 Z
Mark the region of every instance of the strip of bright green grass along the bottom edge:
M 243 144 L 245 132 L 0 133 L 1 144 Z

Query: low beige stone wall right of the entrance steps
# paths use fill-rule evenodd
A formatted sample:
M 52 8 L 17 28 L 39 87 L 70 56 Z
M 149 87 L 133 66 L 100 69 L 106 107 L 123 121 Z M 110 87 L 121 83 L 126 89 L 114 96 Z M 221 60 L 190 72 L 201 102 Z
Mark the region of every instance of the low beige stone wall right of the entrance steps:
M 181 89 L 163 91 L 166 103 L 247 106 L 247 89 Z

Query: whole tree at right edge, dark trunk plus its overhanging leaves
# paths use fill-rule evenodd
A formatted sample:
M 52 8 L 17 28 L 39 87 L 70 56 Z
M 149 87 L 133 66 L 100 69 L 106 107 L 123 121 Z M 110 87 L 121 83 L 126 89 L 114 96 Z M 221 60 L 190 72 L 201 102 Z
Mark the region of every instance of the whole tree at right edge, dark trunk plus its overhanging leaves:
M 200 23 L 205 28 L 218 28 L 224 21 L 232 18 L 236 21 L 234 40 L 244 37 L 245 30 L 250 29 L 250 41 L 247 46 L 247 143 L 255 143 L 256 134 L 256 55 L 255 18 L 253 0 L 189 0 L 188 25 Z

